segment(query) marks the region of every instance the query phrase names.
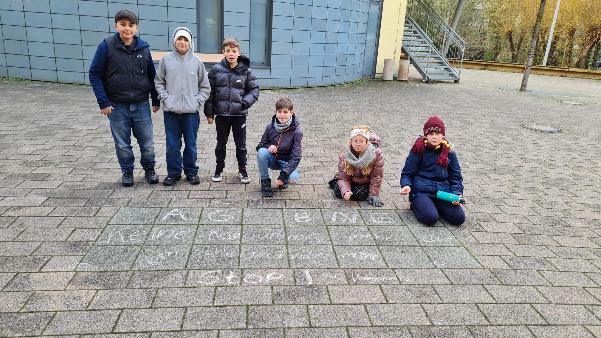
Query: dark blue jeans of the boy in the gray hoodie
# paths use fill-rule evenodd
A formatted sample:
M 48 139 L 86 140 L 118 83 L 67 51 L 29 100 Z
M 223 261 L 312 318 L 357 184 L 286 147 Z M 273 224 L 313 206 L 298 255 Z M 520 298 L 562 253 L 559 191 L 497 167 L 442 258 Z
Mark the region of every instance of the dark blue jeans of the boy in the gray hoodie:
M 163 112 L 165 121 L 165 138 L 167 173 L 172 175 L 198 174 L 198 165 L 196 165 L 196 137 L 198 126 L 200 125 L 200 114 L 189 112 L 185 114 L 176 114 L 175 112 Z M 182 167 L 182 136 L 184 137 L 184 156 Z

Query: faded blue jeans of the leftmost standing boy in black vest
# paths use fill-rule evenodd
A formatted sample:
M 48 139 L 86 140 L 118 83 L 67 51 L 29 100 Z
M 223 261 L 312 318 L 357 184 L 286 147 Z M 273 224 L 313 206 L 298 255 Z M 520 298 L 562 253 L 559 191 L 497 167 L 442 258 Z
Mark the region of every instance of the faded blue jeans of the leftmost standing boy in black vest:
M 111 133 L 115 140 L 117 160 L 121 173 L 133 171 L 132 132 L 140 147 L 140 164 L 144 170 L 154 168 L 154 139 L 152 115 L 148 100 L 142 102 L 111 102 L 113 111 L 108 114 Z

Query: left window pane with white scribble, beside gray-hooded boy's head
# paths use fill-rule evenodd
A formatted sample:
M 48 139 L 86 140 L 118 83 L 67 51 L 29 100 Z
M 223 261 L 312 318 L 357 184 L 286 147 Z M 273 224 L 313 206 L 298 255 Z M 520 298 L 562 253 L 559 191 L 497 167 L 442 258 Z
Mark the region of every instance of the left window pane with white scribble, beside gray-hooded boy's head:
M 222 0 L 197 2 L 198 53 L 221 54 L 223 42 Z

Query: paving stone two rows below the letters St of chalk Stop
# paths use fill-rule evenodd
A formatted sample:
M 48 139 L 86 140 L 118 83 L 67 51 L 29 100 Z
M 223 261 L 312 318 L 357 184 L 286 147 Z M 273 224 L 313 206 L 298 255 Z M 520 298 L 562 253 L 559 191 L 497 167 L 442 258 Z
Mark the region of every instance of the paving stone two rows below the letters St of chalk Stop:
M 183 330 L 218 330 L 246 327 L 246 306 L 191 307 Z

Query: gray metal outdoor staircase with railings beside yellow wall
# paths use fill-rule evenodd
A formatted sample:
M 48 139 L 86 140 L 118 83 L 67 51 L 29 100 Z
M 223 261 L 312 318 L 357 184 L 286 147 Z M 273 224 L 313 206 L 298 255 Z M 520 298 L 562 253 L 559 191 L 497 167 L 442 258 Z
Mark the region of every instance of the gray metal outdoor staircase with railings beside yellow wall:
M 459 83 L 465 45 L 430 4 L 424 0 L 409 1 L 401 50 L 424 82 L 453 80 Z

